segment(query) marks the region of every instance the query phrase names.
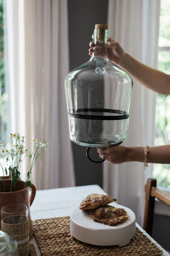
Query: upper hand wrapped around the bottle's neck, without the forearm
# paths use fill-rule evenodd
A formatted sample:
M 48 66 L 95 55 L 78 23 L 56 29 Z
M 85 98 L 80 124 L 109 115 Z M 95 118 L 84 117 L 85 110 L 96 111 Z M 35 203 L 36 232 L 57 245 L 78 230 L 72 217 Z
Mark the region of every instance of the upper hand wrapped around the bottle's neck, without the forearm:
M 92 55 L 92 52 L 94 52 L 93 47 L 95 47 L 95 44 L 93 41 L 90 42 L 90 49 L 89 49 L 89 55 Z M 120 65 L 124 61 L 125 58 L 125 52 L 124 49 L 120 46 L 120 44 L 116 41 L 114 41 L 112 38 L 108 38 L 107 42 L 107 48 L 108 48 L 108 58 L 112 63 Z

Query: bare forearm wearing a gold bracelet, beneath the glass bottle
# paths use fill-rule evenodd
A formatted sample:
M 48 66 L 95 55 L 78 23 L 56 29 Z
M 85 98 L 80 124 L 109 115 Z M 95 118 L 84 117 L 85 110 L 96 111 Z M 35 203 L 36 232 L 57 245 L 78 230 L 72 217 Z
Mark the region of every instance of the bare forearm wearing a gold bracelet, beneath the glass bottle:
M 145 147 L 129 147 L 127 162 L 143 162 L 145 160 Z M 170 164 L 170 145 L 149 147 L 147 153 L 148 163 Z

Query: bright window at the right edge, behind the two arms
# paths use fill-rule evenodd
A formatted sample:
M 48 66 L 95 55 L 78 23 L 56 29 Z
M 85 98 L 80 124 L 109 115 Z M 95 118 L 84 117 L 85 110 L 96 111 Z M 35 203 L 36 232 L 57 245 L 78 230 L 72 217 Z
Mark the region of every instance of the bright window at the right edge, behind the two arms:
M 158 69 L 170 74 L 169 0 L 161 0 Z M 170 95 L 159 94 L 156 99 L 155 146 L 163 144 L 170 144 Z M 154 164 L 153 176 L 158 186 L 170 189 L 170 164 Z

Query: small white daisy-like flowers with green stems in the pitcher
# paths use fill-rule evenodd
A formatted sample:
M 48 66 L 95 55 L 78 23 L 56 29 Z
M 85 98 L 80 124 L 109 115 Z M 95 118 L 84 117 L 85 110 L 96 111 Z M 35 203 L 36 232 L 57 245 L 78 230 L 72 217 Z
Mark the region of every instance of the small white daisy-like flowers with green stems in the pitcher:
M 25 158 L 28 158 L 29 160 L 29 170 L 27 172 L 27 180 L 25 181 L 25 184 L 32 187 L 30 180 L 32 168 L 44 149 L 48 149 L 48 143 L 44 139 L 40 139 L 40 141 L 33 139 L 32 151 L 28 150 L 25 147 L 25 137 L 20 136 L 18 133 L 10 135 L 9 148 L 5 149 L 3 142 L 0 142 L 0 155 L 2 159 L 0 165 L 3 172 L 1 180 L 4 181 L 3 191 L 5 191 L 5 176 L 7 176 L 8 172 L 11 176 L 10 192 L 12 191 L 12 188 L 15 187 L 16 181 L 20 180 L 20 168 L 22 167 Z

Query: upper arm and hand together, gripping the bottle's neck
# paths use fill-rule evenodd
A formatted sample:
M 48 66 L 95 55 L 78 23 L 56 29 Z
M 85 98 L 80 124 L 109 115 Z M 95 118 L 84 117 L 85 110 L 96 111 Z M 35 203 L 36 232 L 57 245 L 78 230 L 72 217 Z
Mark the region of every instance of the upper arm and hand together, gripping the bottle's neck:
M 98 44 L 98 42 L 97 42 Z M 95 47 L 93 41 L 90 42 L 89 55 L 92 55 Z M 95 48 L 93 48 L 95 47 Z M 99 51 L 99 48 L 97 51 Z M 114 41 L 112 38 L 108 38 L 107 42 L 108 49 L 108 58 L 112 61 L 113 64 L 122 68 L 126 71 L 131 77 L 136 79 L 140 84 L 143 84 L 147 88 L 154 90 L 156 93 L 170 94 L 170 75 L 148 67 L 147 65 L 141 63 L 140 61 L 134 59 L 131 55 L 126 53 L 120 44 Z M 99 51 L 100 56 L 100 51 Z

